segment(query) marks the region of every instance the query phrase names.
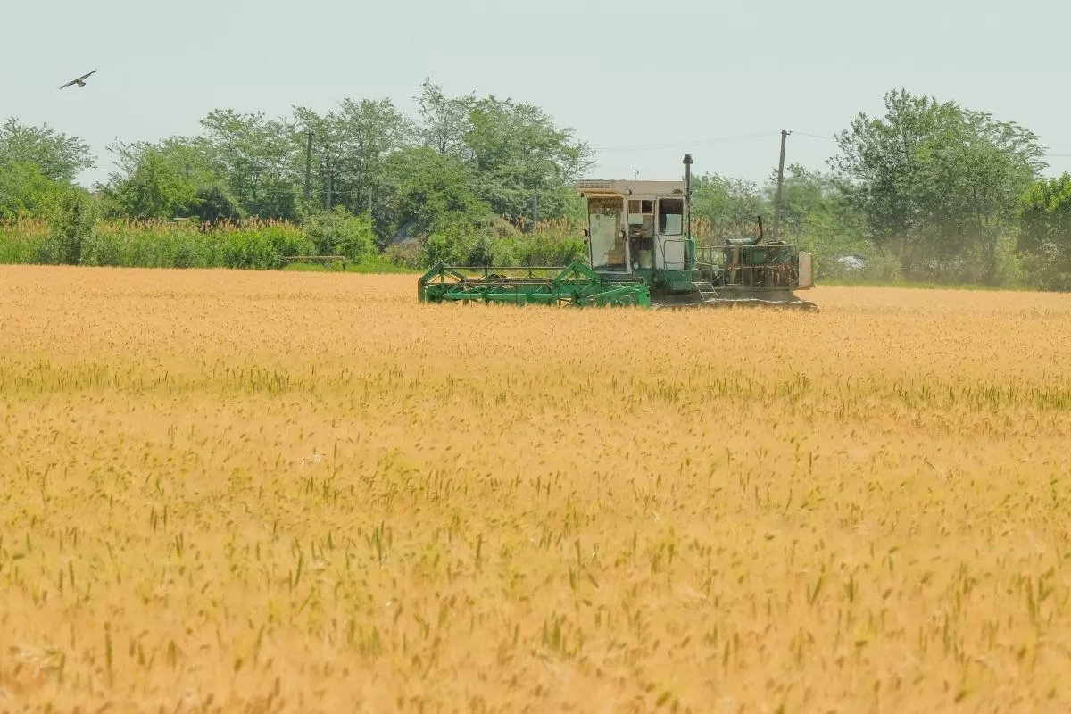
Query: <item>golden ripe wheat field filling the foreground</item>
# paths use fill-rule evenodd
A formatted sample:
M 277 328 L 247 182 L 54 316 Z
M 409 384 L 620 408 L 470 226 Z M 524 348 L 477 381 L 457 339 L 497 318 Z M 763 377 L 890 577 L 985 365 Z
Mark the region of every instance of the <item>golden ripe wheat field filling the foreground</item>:
M 1071 707 L 1071 297 L 0 269 L 0 711 Z

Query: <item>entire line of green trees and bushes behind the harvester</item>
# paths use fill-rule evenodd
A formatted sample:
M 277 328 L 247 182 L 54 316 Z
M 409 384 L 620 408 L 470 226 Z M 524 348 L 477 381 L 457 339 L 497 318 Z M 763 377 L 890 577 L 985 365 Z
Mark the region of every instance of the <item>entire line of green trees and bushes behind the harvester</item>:
M 217 109 L 194 136 L 116 142 L 116 170 L 91 191 L 73 183 L 96 165 L 85 142 L 9 119 L 0 219 L 44 217 L 67 233 L 95 219 L 207 231 L 286 222 L 317 252 L 355 260 L 416 245 L 413 265 L 583 256 L 573 183 L 593 166 L 587 142 L 530 104 L 448 96 L 431 80 L 414 98 L 414 117 L 390 100 L 283 118 Z M 836 134 L 825 167 L 787 167 L 781 238 L 812 250 L 825 277 L 1071 289 L 1071 177 L 1043 176 L 1040 138 L 955 102 L 884 98 L 883 116 L 860 113 Z M 716 244 L 769 222 L 775 178 L 695 177 L 697 237 Z

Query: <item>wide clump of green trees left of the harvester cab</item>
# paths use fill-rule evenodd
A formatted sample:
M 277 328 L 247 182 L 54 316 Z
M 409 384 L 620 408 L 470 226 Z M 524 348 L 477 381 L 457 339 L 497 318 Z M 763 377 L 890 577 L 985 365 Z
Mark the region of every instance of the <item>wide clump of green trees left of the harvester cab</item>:
M 433 229 L 431 245 L 451 236 L 482 245 L 472 238 L 481 226 L 497 215 L 523 222 L 537 200 L 541 218 L 583 217 L 572 182 L 591 165 L 591 151 L 572 130 L 530 104 L 450 97 L 429 80 L 418 102 L 417 119 L 390 100 L 348 97 L 327 112 L 296 107 L 280 119 L 217 109 L 201 120 L 199 136 L 117 143 L 119 170 L 104 187 L 108 214 L 305 219 L 325 246 L 333 241 L 323 231 L 334 229 L 315 216 L 329 191 L 332 207 L 369 214 L 380 246 Z

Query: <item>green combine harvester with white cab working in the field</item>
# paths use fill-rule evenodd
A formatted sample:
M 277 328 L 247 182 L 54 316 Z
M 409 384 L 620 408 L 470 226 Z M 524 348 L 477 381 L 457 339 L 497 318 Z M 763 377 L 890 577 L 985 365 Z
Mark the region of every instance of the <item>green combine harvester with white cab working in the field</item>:
M 692 157 L 684 181 L 579 181 L 589 263 L 557 268 L 434 267 L 420 302 L 643 307 L 772 306 L 816 310 L 811 254 L 755 238 L 697 247 L 691 236 Z

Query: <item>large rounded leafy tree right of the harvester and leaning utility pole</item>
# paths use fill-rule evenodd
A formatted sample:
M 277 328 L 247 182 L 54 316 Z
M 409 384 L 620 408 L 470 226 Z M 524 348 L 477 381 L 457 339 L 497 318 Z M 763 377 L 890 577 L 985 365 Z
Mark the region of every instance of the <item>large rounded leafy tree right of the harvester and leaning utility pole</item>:
M 887 113 L 838 135 L 841 187 L 906 277 L 998 277 L 1017 197 L 1043 166 L 1037 137 L 953 102 L 886 94 Z

